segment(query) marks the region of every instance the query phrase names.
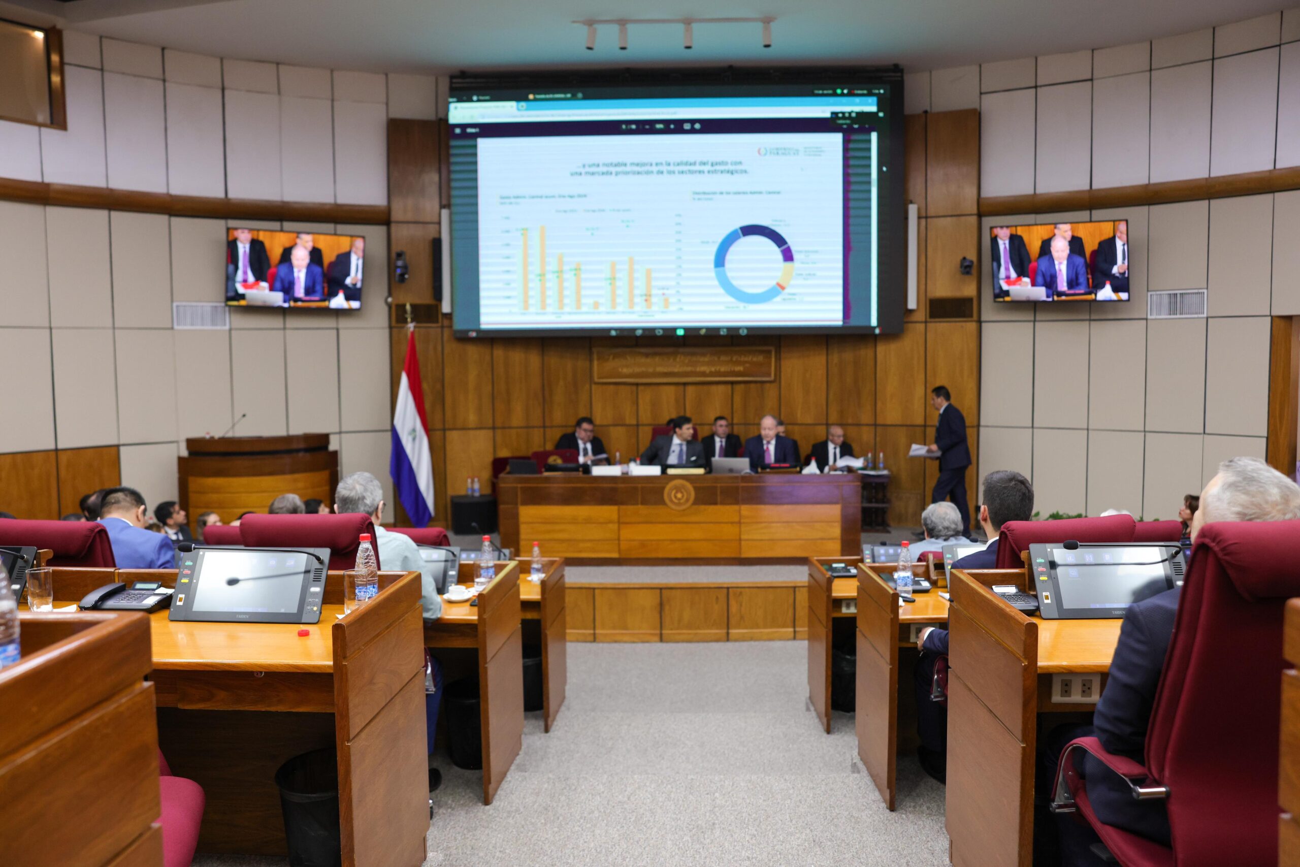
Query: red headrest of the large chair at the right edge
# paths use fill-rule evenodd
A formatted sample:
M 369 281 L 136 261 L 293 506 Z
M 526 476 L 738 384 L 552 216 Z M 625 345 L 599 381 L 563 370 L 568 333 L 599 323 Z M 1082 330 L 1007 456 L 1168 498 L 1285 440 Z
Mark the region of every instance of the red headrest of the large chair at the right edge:
M 1196 534 L 1192 560 L 1213 551 L 1248 602 L 1300 595 L 1300 521 L 1214 521 Z

